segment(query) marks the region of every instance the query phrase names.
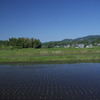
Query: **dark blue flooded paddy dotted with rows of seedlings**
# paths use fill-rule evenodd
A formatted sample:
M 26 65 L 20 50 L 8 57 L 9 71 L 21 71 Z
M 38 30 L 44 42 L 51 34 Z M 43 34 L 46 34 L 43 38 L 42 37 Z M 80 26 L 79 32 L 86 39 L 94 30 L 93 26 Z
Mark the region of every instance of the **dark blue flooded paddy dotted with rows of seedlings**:
M 100 64 L 0 65 L 0 100 L 100 100 Z

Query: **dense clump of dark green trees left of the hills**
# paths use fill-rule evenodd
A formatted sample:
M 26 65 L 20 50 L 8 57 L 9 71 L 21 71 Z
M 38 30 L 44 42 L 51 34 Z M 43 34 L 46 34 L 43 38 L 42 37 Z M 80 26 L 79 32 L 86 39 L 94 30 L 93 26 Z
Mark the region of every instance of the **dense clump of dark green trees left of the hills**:
M 0 45 L 12 46 L 17 48 L 41 48 L 42 43 L 39 39 L 35 38 L 9 38 L 6 41 L 0 41 Z

